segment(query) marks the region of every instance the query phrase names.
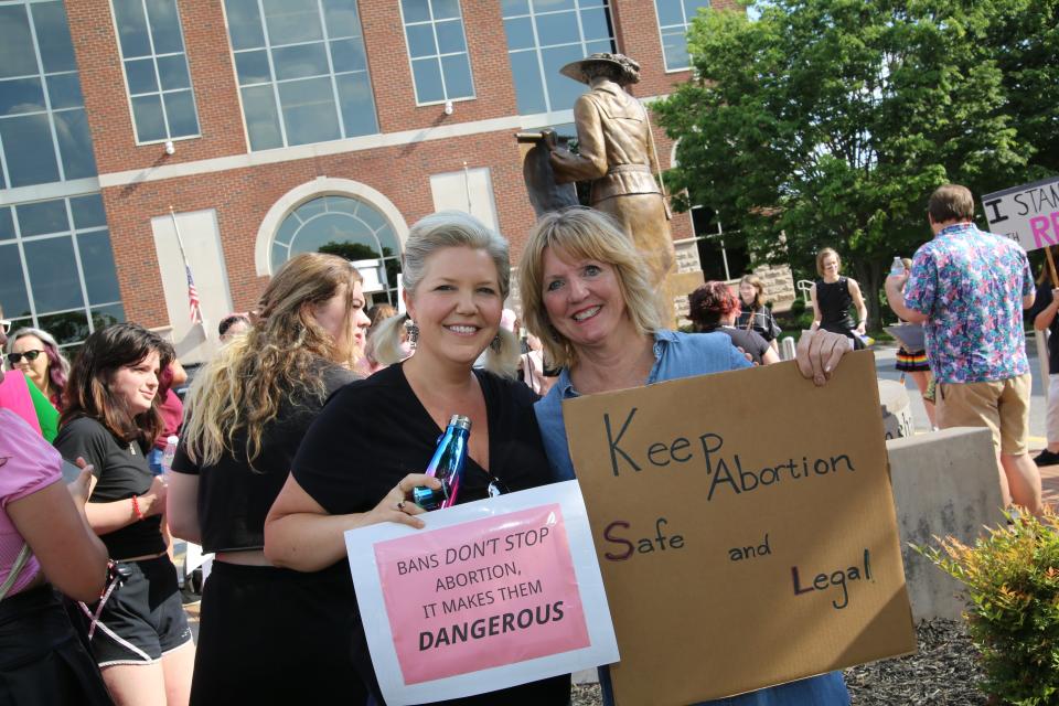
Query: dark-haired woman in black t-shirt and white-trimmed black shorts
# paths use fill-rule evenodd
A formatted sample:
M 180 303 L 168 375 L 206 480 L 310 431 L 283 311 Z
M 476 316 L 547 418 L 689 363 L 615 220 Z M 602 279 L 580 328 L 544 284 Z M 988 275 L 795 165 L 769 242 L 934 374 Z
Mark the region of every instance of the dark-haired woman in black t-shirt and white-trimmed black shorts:
M 172 357 L 169 343 L 133 323 L 89 335 L 55 437 L 63 457 L 94 467 L 99 480 L 85 514 L 122 577 L 101 606 L 77 607 L 117 704 L 186 704 L 191 686 L 194 643 L 161 532 L 165 481 L 146 456 L 162 430 L 158 375 Z

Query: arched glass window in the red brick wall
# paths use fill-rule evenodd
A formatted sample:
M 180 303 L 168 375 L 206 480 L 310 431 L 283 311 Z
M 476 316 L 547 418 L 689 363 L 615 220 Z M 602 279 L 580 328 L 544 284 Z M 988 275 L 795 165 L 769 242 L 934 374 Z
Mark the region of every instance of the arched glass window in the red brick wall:
M 291 211 L 272 239 L 272 271 L 301 253 L 331 253 L 354 261 L 382 260 L 386 281 L 379 293 L 396 304 L 400 245 L 386 216 L 366 201 L 318 196 Z

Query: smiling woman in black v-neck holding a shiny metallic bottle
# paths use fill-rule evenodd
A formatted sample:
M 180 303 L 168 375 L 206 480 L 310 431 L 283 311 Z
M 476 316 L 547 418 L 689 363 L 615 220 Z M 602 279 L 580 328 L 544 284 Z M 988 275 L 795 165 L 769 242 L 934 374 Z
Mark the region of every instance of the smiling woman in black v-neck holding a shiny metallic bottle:
M 494 478 L 512 491 L 549 482 L 535 395 L 514 379 L 517 342 L 500 327 L 507 243 L 466 214 L 435 214 L 409 232 L 403 272 L 408 313 L 382 324 L 377 350 L 396 350 L 408 319 L 415 353 L 347 386 L 309 429 L 265 524 L 265 552 L 276 564 L 349 571 L 345 530 L 386 521 L 421 527 L 411 490 L 438 486 L 421 471 L 453 414 L 472 425 L 459 502 L 486 498 Z M 486 370 L 475 371 L 486 347 Z M 334 606 L 334 614 L 343 609 Z M 360 616 L 353 617 L 353 664 L 383 703 Z M 565 706 L 569 698 L 564 675 L 453 703 Z

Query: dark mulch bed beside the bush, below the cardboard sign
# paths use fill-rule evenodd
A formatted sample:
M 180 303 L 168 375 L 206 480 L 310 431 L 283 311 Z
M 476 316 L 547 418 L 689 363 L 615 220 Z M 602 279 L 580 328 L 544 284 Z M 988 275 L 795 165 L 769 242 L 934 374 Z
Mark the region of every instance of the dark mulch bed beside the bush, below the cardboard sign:
M 982 678 L 963 623 L 920 623 L 917 654 L 882 660 L 845 671 L 856 706 L 986 706 L 975 684 Z M 599 706 L 596 684 L 574 686 L 574 706 Z

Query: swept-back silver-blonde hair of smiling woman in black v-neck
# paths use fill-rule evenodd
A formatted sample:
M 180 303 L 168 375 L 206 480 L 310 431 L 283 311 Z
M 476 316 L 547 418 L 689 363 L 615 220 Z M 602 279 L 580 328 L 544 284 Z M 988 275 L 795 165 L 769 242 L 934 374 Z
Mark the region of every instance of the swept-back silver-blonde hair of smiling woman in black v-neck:
M 496 266 L 500 297 L 502 300 L 507 299 L 511 291 L 507 240 L 470 214 L 440 211 L 420 218 L 408 231 L 400 271 L 405 291 L 413 300 L 419 282 L 422 281 L 427 260 L 438 250 L 448 247 L 469 247 L 488 253 Z M 385 365 L 400 361 L 400 334 L 407 322 L 408 314 L 391 317 L 372 331 L 376 361 Z M 518 341 L 511 331 L 503 328 L 498 330 L 496 336 L 495 343 L 489 346 L 485 370 L 502 377 L 514 378 L 518 370 Z

